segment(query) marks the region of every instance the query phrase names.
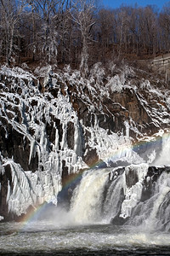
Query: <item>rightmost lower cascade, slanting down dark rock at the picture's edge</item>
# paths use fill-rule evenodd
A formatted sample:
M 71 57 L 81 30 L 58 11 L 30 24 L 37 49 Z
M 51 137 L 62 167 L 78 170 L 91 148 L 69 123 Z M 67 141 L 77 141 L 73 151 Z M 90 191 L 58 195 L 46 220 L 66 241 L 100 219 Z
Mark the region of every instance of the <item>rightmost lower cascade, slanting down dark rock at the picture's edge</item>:
M 148 230 L 170 230 L 170 173 L 162 172 L 147 201 L 134 209 L 128 224 Z

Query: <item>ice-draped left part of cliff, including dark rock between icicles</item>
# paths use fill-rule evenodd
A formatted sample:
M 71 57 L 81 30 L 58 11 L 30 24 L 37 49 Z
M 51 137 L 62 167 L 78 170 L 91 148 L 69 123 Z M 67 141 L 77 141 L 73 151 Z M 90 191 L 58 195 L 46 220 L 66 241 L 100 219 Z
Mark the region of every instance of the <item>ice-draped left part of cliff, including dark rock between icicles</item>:
M 62 94 L 61 81 L 56 78 L 51 81 L 57 94 L 53 96 L 48 90 L 40 92 L 34 75 L 21 68 L 3 67 L 1 75 L 4 83 L 0 102 L 0 174 L 5 180 L 8 166 L 11 172 L 11 180 L 8 177 L 6 181 L 8 212 L 20 216 L 31 205 L 44 201 L 57 203 L 63 167 L 70 174 L 87 166 L 82 161 L 77 113 L 68 96 Z M 44 79 L 42 86 L 53 87 L 47 81 Z M 0 185 L 0 192 L 2 189 Z

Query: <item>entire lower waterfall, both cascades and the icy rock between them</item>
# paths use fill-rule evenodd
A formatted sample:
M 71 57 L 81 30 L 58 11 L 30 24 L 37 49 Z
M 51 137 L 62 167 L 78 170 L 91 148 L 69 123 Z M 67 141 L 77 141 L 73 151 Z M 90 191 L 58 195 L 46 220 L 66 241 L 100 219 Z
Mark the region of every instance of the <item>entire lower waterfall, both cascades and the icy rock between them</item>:
M 77 224 L 128 224 L 170 230 L 170 169 L 147 164 L 83 173 L 71 198 Z

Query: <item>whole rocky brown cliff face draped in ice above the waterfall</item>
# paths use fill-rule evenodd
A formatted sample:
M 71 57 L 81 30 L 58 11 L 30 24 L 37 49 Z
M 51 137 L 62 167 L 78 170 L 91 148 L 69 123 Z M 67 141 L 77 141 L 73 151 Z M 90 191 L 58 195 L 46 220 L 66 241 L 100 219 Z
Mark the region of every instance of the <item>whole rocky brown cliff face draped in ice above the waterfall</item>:
M 56 204 L 62 180 L 94 164 L 138 164 L 150 161 L 147 151 L 156 158 L 158 131 L 169 128 L 170 94 L 141 73 L 123 66 L 106 75 L 96 64 L 82 79 L 69 67 L 1 67 L 0 216 Z M 146 137 L 151 147 L 133 148 Z

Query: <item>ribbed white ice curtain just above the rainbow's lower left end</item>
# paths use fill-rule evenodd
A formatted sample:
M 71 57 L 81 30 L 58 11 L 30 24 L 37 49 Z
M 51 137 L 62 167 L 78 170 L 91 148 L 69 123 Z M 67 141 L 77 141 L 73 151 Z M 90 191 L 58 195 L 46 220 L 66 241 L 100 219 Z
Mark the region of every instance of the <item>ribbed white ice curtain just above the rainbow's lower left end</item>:
M 8 160 L 3 168 L 5 166 L 10 166 L 12 176 L 11 182 L 8 180 L 8 212 L 20 216 L 31 205 L 37 207 L 44 201 L 57 204 L 55 195 L 61 189 L 59 173 L 24 172 L 13 160 Z

